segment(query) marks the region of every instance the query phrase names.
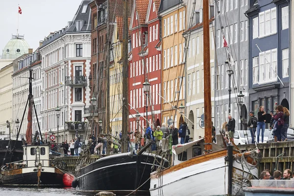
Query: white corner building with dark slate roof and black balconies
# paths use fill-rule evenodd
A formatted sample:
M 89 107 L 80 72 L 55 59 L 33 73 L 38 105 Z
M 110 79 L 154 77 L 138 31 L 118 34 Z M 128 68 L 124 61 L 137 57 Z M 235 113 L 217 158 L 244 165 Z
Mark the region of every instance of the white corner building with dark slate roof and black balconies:
M 91 11 L 83 0 L 73 20 L 66 28 L 51 33 L 40 47 L 42 54 L 41 130 L 52 131 L 61 143 L 71 140 L 77 125 L 84 124 L 85 106 L 90 106 L 90 88 L 87 76 L 91 61 Z M 56 107 L 61 109 L 56 116 Z M 59 129 L 57 131 L 57 119 Z M 84 130 L 78 135 L 83 140 Z M 49 140 L 49 138 L 48 138 Z

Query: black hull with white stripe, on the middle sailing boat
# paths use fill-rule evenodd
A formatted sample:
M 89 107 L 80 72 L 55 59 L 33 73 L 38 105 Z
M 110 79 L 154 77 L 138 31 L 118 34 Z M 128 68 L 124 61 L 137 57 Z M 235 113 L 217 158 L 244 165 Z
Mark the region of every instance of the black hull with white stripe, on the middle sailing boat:
M 149 194 L 150 173 L 160 166 L 161 160 L 147 152 L 140 156 L 121 153 L 103 157 L 82 168 L 73 187 L 81 192 L 127 194 L 137 189 L 135 194 Z M 168 167 L 166 160 L 163 166 Z

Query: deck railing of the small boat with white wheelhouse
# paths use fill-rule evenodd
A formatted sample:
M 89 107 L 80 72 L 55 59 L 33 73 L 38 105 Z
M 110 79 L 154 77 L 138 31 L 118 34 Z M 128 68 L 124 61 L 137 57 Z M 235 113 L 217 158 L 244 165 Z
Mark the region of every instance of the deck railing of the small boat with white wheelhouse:
M 44 162 L 49 161 L 49 166 L 44 166 Z M 41 160 L 22 160 L 22 161 L 16 161 L 12 163 L 7 163 L 2 170 L 8 171 L 8 170 L 15 170 L 15 169 L 21 169 L 21 168 L 33 168 L 33 167 L 27 167 L 29 162 L 34 162 L 33 167 L 38 167 L 39 163 L 42 163 L 42 166 L 44 167 L 57 167 L 62 170 L 67 170 L 67 164 L 62 161 L 56 161 L 56 160 L 49 160 L 49 159 L 41 159 Z

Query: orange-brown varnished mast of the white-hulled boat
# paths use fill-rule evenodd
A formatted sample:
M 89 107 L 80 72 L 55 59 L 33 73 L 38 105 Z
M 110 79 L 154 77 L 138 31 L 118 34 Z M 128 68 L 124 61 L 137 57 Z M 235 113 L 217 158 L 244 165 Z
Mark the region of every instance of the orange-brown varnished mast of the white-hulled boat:
M 210 81 L 210 43 L 209 43 L 209 0 L 203 0 L 203 68 L 204 75 L 204 130 L 205 153 L 212 151 L 211 124 L 211 81 Z

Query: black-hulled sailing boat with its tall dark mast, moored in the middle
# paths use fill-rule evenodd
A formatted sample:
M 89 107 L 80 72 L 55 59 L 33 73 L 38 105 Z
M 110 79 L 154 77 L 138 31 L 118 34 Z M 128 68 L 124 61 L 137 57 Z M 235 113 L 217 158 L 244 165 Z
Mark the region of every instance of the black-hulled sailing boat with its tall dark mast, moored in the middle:
M 78 170 L 72 187 L 80 192 L 111 191 L 115 194 L 148 194 L 150 173 L 158 167 L 168 167 L 166 159 L 145 152 L 151 143 L 139 152 L 127 152 L 128 146 L 128 0 L 123 1 L 123 128 L 122 153 L 102 157 Z M 108 11 L 107 11 L 108 13 Z M 108 16 L 109 17 L 109 16 Z M 109 30 L 109 29 L 108 29 Z M 109 66 L 106 66 L 109 69 Z M 109 97 L 107 97 L 109 99 Z M 108 126 L 108 123 L 106 124 Z M 99 138 L 100 139 L 100 138 Z M 107 139 L 109 141 L 109 139 Z M 135 191 L 133 191 L 135 190 Z

